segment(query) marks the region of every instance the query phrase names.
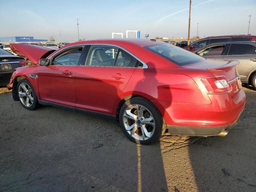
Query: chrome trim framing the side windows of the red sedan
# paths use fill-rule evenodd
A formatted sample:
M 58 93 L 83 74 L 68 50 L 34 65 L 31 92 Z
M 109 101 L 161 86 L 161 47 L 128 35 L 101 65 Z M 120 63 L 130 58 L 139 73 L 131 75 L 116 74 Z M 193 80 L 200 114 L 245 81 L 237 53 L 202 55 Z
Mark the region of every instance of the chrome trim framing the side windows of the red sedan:
M 55 52 L 52 56 L 50 56 L 48 59 L 50 60 L 50 63 L 52 61 L 52 58 L 58 54 L 59 52 L 63 51 L 63 50 L 66 50 L 68 48 L 72 48 L 72 47 L 76 47 L 76 46 L 86 46 L 86 45 L 105 45 L 105 46 L 113 46 L 113 47 L 118 47 L 122 50 L 124 50 L 125 52 L 127 52 L 128 54 L 130 54 L 131 56 L 133 56 L 134 58 L 136 58 L 139 62 L 141 62 L 143 64 L 142 67 L 123 67 L 123 68 L 143 68 L 143 69 L 146 69 L 148 68 L 148 65 L 142 61 L 140 58 L 138 58 L 137 56 L 135 56 L 134 54 L 132 54 L 130 51 L 128 51 L 127 49 L 119 46 L 119 45 L 116 45 L 116 44 L 106 44 L 106 43 L 90 43 L 90 44 L 75 44 L 75 45 L 70 45 L 70 46 L 67 46 L 65 49 L 62 49 L 62 50 L 58 50 L 57 52 Z M 82 65 L 82 66 L 86 66 L 86 65 Z M 96 67 L 96 66 L 90 66 L 90 67 Z M 103 66 L 100 66 L 100 67 L 103 67 Z M 105 66 L 105 67 L 120 67 L 120 66 Z

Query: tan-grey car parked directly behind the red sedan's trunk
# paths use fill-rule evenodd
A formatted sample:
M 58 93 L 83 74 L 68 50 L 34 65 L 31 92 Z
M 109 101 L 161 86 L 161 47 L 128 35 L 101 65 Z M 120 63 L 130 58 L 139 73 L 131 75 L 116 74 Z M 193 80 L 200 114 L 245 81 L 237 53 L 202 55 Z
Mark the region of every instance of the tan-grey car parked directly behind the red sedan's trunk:
M 236 68 L 241 82 L 256 90 L 256 42 L 219 42 L 194 53 L 207 59 L 238 60 Z

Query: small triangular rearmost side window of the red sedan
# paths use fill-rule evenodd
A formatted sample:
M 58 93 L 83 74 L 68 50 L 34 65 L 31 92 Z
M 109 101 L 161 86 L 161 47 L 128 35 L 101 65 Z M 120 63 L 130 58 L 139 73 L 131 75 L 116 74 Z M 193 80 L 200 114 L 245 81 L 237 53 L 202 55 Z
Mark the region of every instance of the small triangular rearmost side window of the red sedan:
M 135 67 L 138 60 L 131 56 L 130 54 L 126 53 L 124 50 L 119 51 L 118 57 L 116 60 L 117 67 Z

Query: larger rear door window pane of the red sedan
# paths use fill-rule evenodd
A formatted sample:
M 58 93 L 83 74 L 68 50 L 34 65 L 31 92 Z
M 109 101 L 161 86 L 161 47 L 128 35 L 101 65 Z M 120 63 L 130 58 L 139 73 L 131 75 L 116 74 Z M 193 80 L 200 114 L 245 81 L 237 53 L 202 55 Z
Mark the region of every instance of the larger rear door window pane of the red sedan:
M 88 66 L 114 66 L 118 48 L 104 45 L 92 45 L 88 53 Z

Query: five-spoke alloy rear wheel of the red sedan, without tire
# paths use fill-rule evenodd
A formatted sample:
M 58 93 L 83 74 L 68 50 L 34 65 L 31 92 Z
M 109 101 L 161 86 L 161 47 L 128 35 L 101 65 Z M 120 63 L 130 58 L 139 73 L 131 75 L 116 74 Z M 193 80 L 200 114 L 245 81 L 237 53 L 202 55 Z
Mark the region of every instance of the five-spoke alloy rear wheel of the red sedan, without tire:
M 155 120 L 152 113 L 139 104 L 130 105 L 123 114 L 126 131 L 137 140 L 148 140 L 155 131 Z

